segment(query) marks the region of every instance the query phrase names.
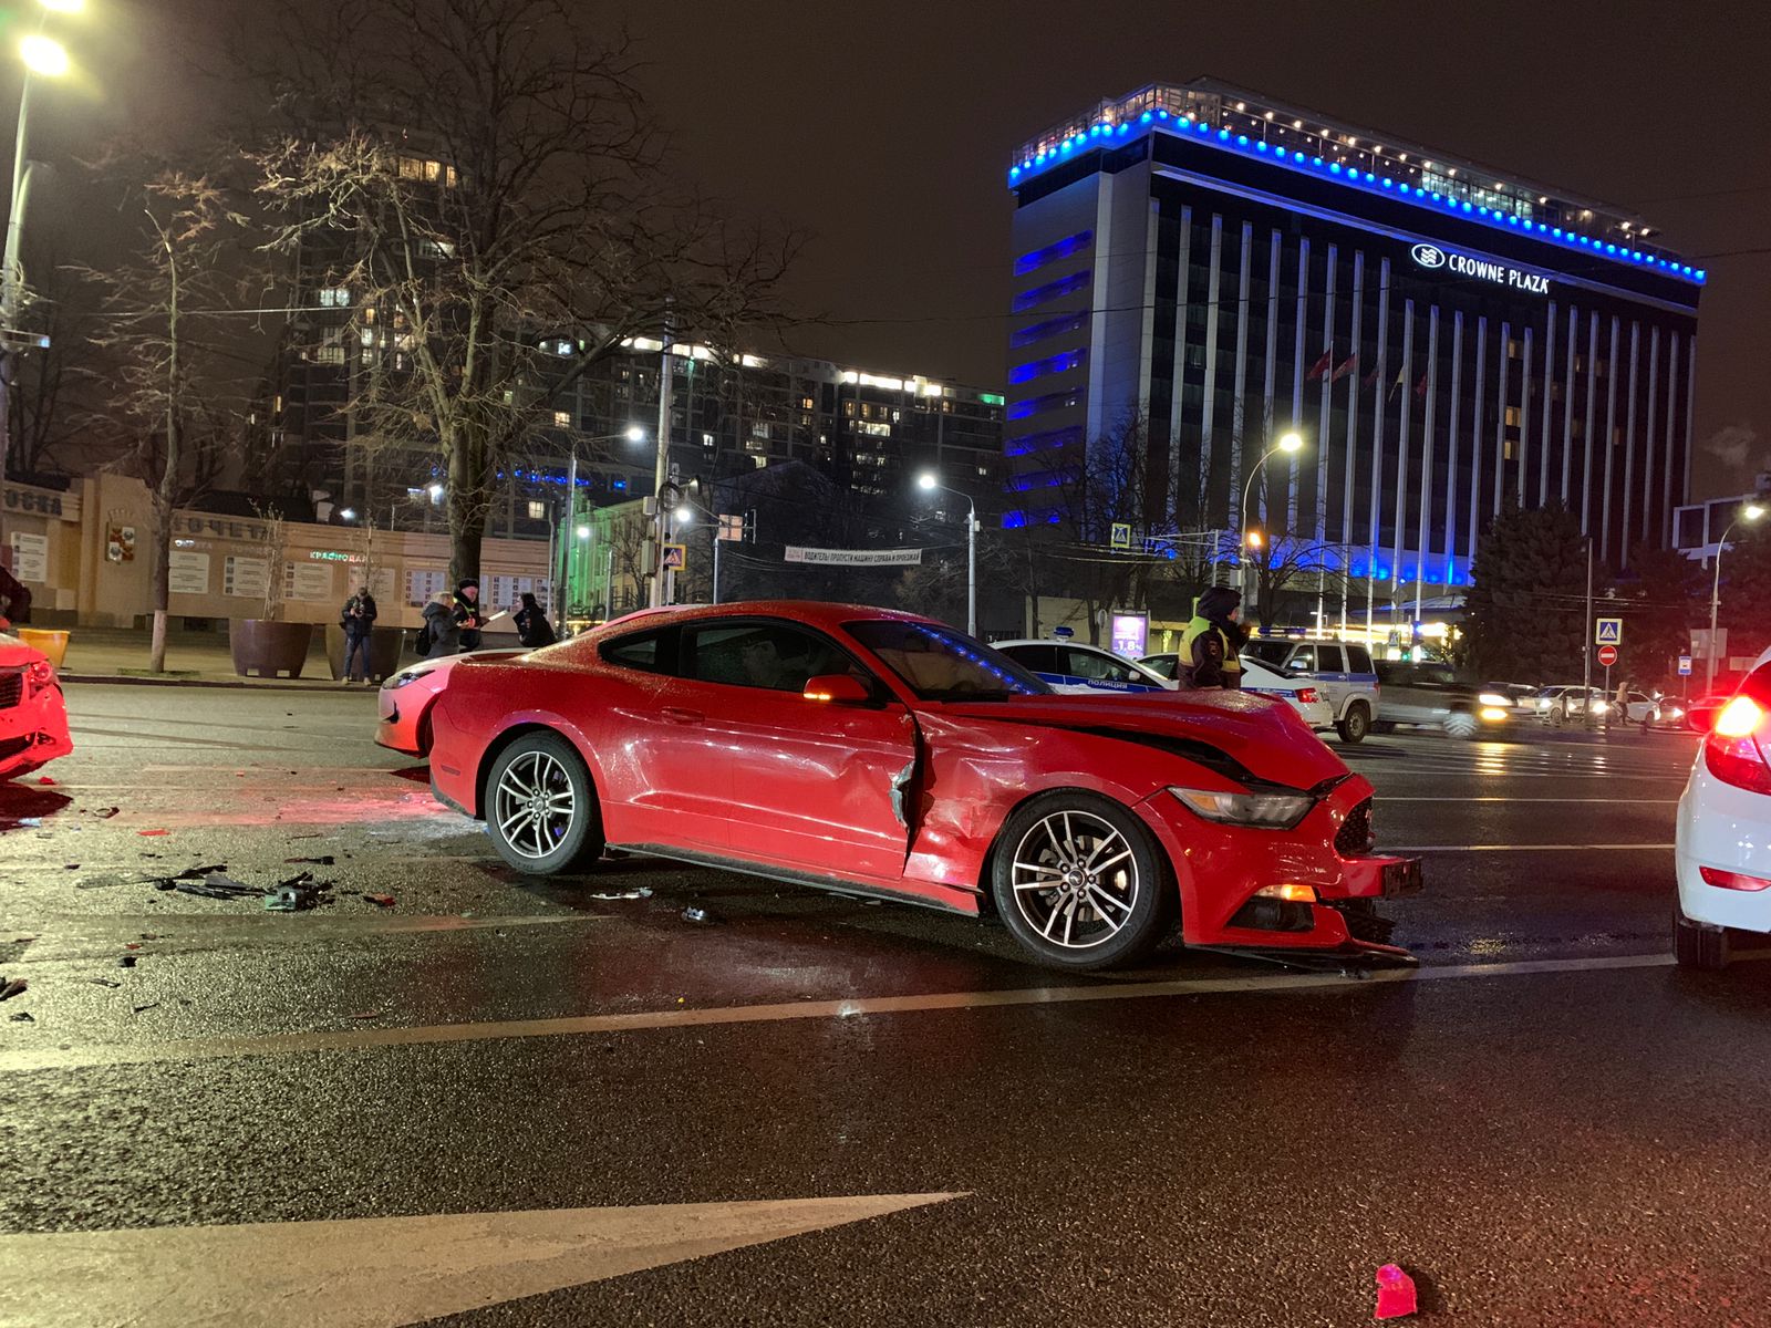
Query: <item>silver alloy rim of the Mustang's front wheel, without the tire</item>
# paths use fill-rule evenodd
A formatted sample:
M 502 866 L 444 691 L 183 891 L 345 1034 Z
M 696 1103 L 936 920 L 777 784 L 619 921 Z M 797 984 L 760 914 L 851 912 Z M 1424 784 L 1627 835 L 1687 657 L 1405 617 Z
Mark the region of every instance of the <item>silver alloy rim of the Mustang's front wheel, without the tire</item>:
M 1015 846 L 1011 873 L 1022 919 L 1064 949 L 1107 944 L 1137 908 L 1132 845 L 1087 811 L 1054 811 L 1034 822 Z

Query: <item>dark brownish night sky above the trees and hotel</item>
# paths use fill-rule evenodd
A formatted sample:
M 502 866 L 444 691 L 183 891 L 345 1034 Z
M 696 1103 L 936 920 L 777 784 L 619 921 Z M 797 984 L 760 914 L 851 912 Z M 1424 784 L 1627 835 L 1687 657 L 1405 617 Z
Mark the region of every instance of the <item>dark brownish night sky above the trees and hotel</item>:
M 87 4 L 90 78 L 46 112 L 51 154 L 225 117 L 189 66 L 216 67 L 218 14 L 275 0 Z M 1642 212 L 1709 269 L 1698 496 L 1771 467 L 1771 255 L 1725 257 L 1771 246 L 1760 5 L 677 0 L 629 18 L 678 170 L 813 232 L 792 297 L 825 320 L 785 333 L 795 352 L 999 386 L 1013 149 L 1102 97 L 1210 74 Z

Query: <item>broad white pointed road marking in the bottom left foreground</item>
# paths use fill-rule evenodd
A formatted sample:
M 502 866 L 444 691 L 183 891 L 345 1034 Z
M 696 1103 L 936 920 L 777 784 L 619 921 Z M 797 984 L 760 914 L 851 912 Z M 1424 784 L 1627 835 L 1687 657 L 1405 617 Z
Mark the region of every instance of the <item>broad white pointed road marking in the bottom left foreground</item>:
M 0 1321 L 393 1328 L 963 1193 L 0 1236 Z

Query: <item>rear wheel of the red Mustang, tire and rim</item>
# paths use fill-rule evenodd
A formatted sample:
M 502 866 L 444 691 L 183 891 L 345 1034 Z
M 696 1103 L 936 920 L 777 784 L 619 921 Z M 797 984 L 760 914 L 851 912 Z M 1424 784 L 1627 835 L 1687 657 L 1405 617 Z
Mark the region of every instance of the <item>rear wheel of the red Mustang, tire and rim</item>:
M 590 770 L 558 733 L 524 733 L 485 779 L 485 827 L 498 855 L 530 876 L 553 876 L 602 855 L 602 815 Z

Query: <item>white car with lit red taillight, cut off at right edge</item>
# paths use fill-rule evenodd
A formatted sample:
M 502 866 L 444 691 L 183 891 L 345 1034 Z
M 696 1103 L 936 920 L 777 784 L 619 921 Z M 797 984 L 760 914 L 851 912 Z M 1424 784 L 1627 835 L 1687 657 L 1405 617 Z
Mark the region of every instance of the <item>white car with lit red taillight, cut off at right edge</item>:
M 1716 712 L 1679 799 L 1674 954 L 1728 961 L 1728 933 L 1771 933 L 1771 650 Z

